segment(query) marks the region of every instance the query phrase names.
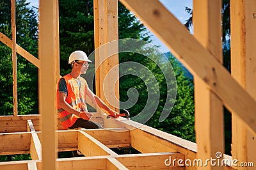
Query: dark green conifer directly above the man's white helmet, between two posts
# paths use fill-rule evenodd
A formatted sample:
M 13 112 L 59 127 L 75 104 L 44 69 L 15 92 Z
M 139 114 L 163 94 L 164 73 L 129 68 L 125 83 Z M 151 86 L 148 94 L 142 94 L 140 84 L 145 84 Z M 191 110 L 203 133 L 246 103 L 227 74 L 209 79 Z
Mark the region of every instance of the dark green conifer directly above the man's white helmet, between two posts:
M 93 1 L 60 0 L 60 66 L 61 75 L 70 72 L 68 56 L 74 50 L 90 54 L 94 50 Z

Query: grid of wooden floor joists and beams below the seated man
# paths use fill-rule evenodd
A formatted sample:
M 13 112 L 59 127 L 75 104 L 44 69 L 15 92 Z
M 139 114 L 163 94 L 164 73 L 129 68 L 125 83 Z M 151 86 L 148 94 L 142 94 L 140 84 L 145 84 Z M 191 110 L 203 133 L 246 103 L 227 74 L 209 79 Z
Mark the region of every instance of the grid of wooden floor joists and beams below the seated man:
M 174 164 L 168 166 L 170 157 L 176 160 L 196 159 L 196 144 L 174 135 L 156 130 L 146 125 L 124 118 L 107 119 L 102 117 L 104 125 L 115 126 L 102 129 L 57 130 L 58 151 L 80 150 L 86 157 L 58 158 L 59 169 L 185 169 L 184 166 Z M 110 121 L 113 121 L 110 123 Z M 28 169 L 40 167 L 40 138 L 41 132 L 36 132 L 35 123 L 28 120 L 31 132 L 1 133 L 0 155 L 30 153 L 35 162 L 0 162 L 0 169 Z M 136 128 L 132 128 L 136 125 Z M 20 141 L 22 139 L 22 141 Z M 22 143 L 22 144 L 20 144 Z M 36 150 L 36 146 L 37 150 Z M 118 155 L 109 148 L 129 147 L 141 153 Z M 38 149 L 39 148 L 39 149 Z M 90 148 L 90 149 L 88 149 Z M 231 158 L 232 159 L 232 158 Z M 177 163 L 177 161 L 176 161 Z M 172 162 L 171 162 L 172 164 Z M 167 165 L 167 166 L 166 166 Z M 195 167 L 186 167 L 195 169 Z

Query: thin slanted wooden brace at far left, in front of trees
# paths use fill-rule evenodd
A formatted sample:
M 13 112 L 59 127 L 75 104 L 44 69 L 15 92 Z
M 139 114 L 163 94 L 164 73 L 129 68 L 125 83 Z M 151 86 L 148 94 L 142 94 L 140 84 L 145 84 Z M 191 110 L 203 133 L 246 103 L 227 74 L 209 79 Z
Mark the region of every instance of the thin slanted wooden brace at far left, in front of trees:
M 10 40 L 10 38 L 8 38 L 6 35 L 4 35 L 1 32 L 0 32 L 0 41 L 12 49 L 12 40 Z M 40 68 L 39 59 L 35 58 L 32 54 L 30 54 L 28 51 L 24 50 L 19 45 L 17 45 L 17 52 L 18 52 L 18 54 L 20 54 L 20 56 L 27 59 L 30 63 L 35 65 L 37 68 Z

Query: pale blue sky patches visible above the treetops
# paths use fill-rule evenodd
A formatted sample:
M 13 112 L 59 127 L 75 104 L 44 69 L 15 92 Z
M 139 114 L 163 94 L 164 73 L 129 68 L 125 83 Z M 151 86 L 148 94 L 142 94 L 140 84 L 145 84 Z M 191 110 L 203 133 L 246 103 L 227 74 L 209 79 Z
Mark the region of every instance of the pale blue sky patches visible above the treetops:
M 140 0 L 138 0 L 140 1 Z M 185 12 L 185 6 L 192 8 L 193 0 L 159 0 L 170 12 L 180 20 L 182 24 L 189 18 L 189 14 Z M 31 6 L 38 6 L 38 0 L 28 0 L 31 3 Z M 169 49 L 156 37 L 153 33 L 152 35 L 152 43 L 154 45 L 160 45 L 160 49 L 163 52 L 168 52 Z

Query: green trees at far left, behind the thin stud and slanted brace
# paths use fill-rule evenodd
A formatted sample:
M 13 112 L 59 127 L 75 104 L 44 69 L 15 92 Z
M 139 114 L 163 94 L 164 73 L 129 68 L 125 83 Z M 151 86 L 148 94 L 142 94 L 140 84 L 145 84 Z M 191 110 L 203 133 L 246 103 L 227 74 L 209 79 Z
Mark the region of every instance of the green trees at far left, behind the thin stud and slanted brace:
M 10 1 L 1 1 L 0 31 L 11 38 Z M 28 7 L 25 0 L 16 1 L 17 44 L 37 56 L 37 20 L 36 13 Z M 2 15 L 3 14 L 3 15 Z M 12 95 L 12 49 L 0 43 L 0 89 L 1 115 L 13 114 Z M 17 55 L 18 114 L 38 114 L 37 68 Z M 31 93 L 31 91 L 33 93 Z

